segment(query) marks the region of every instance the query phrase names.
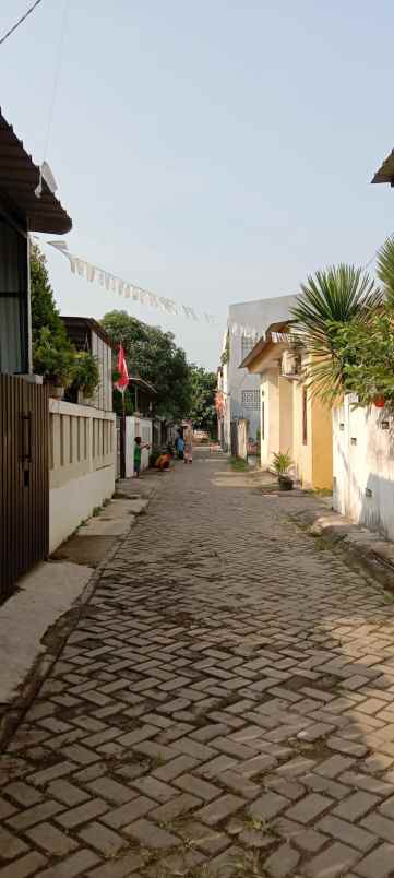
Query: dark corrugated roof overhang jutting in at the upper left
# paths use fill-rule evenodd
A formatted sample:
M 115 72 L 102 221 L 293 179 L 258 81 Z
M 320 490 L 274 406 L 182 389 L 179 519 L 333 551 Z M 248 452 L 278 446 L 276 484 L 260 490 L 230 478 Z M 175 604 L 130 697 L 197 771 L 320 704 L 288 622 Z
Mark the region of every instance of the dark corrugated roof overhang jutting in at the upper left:
M 0 109 L 0 198 L 27 224 L 28 230 L 64 235 L 72 222 L 44 180 L 41 195 L 37 198 L 34 190 L 39 176 L 38 165 Z

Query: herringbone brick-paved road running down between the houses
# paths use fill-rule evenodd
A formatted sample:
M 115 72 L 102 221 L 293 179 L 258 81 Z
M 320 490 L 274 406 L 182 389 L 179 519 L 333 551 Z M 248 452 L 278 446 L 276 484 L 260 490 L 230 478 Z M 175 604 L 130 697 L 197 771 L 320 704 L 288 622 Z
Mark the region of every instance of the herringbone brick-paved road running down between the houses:
M 0 878 L 394 875 L 394 607 L 179 465 L 0 760 Z

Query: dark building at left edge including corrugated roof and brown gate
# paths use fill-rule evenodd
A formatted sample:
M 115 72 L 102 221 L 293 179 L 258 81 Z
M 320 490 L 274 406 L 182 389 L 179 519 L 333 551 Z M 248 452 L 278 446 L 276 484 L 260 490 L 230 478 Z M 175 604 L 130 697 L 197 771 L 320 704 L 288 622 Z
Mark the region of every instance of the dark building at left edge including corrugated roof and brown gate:
M 0 111 L 0 598 L 49 547 L 48 391 L 32 376 L 29 233 L 71 220 Z M 41 183 L 40 197 L 36 189 Z

